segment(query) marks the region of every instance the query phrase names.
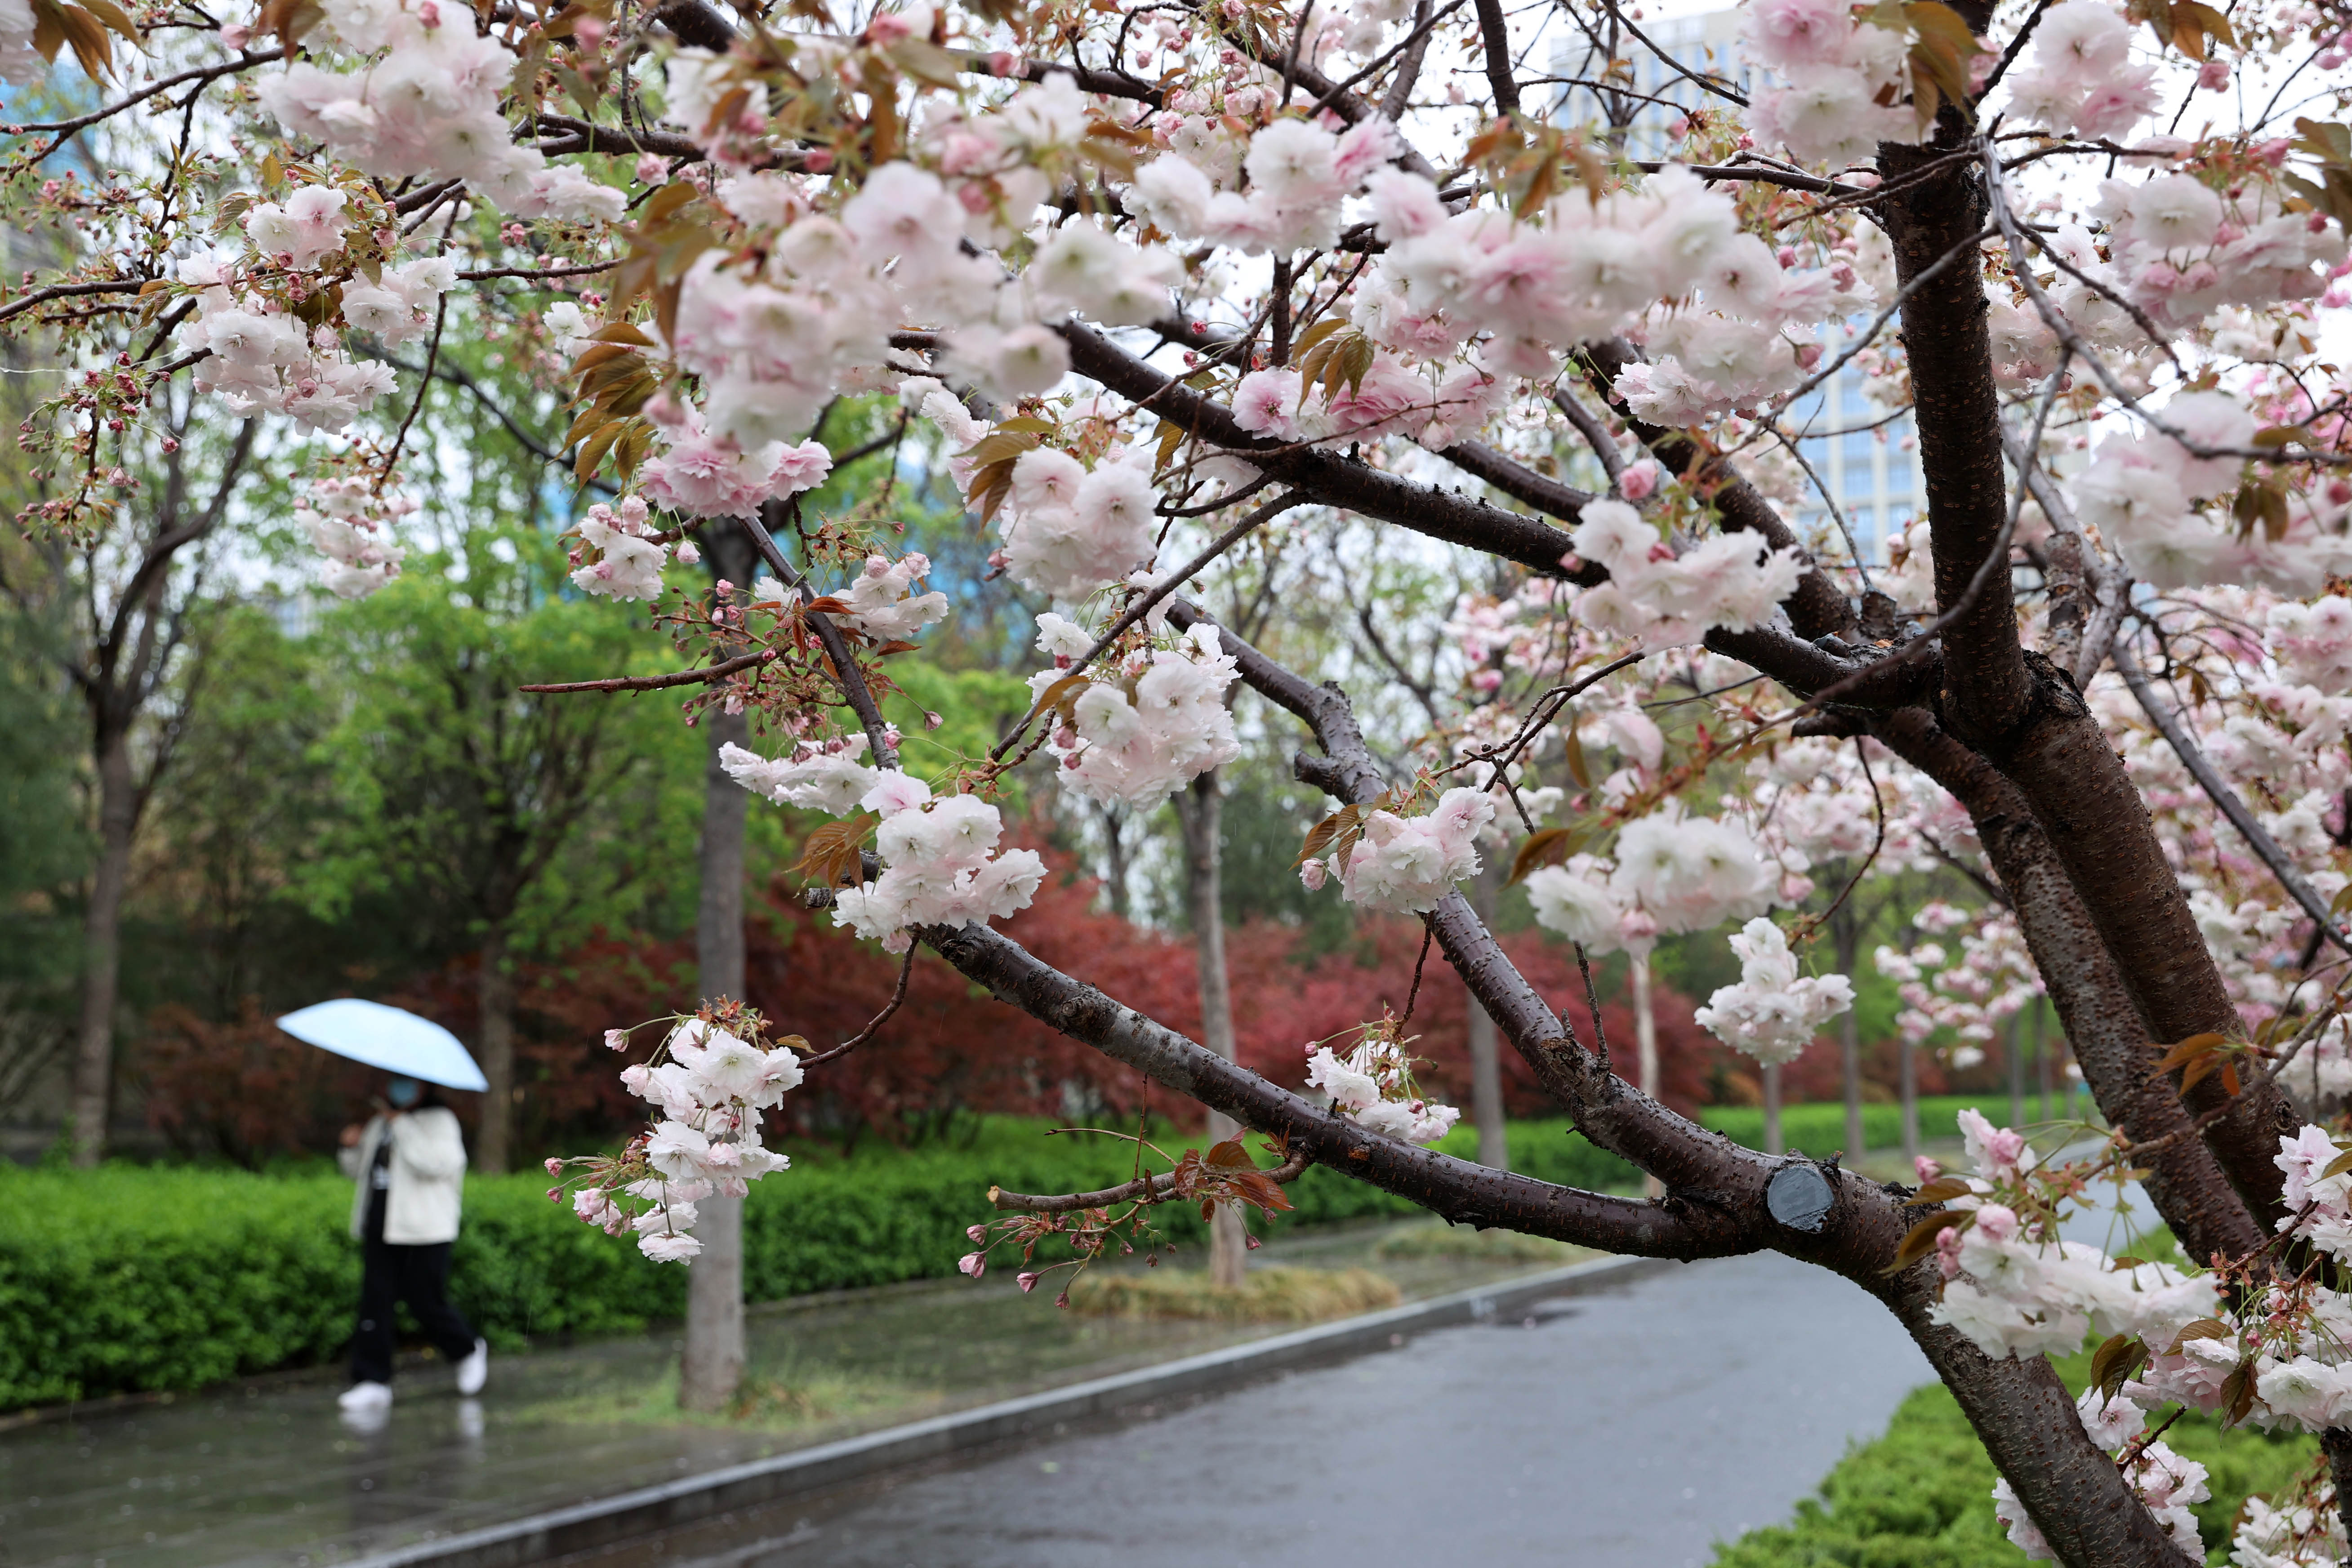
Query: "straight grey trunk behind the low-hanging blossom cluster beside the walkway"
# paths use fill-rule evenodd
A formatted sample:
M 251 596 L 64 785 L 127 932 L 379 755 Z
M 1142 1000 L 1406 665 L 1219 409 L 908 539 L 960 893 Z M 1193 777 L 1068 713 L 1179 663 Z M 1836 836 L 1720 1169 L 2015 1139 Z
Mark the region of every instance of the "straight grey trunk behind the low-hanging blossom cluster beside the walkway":
M 750 741 L 750 722 L 706 710 L 710 762 L 703 769 L 701 903 L 694 952 L 703 1001 L 743 999 L 743 809 L 750 792 L 720 766 L 720 748 Z M 677 1359 L 677 1403 L 724 1410 L 743 1387 L 743 1199 L 696 1204 L 703 1251 L 687 1267 L 687 1347 Z

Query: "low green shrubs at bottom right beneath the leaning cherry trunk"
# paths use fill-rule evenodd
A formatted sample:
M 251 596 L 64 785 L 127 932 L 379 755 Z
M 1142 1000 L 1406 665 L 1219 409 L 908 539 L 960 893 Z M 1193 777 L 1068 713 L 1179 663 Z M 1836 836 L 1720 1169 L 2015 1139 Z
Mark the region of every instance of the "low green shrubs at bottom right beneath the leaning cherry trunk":
M 2058 1363 L 2070 1389 L 2084 1387 L 2089 1361 Z M 2194 1413 L 2164 1441 L 2211 1472 L 2213 1500 L 2197 1505 L 2211 1563 L 2230 1561 L 2230 1530 L 2246 1497 L 2286 1490 L 2317 1450 L 2307 1436 L 2223 1432 Z M 1903 1401 L 1886 1436 L 1837 1462 L 1820 1497 L 1799 1502 L 1792 1523 L 1719 1547 L 1715 1568 L 2018 1568 L 2025 1559 L 1992 1521 L 1994 1476 L 1959 1403 L 1929 1385 Z

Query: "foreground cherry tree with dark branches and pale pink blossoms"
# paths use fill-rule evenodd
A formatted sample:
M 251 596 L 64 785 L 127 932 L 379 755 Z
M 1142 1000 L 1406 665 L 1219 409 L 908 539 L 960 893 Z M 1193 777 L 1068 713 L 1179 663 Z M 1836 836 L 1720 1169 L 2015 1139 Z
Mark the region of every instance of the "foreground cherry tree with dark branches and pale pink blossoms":
M 35 0 L 0 12 L 0 75 L 33 87 L 71 45 L 85 80 L 12 99 L 61 108 L 7 127 L 0 167 L 16 228 L 78 240 L 0 296 L 71 371 L 26 421 L 21 522 L 99 545 L 181 376 L 308 433 L 296 520 L 336 595 L 412 548 L 433 381 L 602 491 L 572 583 L 661 604 L 682 668 L 546 696 L 753 715 L 729 771 L 835 818 L 811 898 L 906 952 L 847 1041 L 769 1044 L 724 1001 L 628 1070 L 661 1119 L 583 1166 L 576 1204 L 652 1255 L 691 1255 L 696 1194 L 781 1168 L 764 1110 L 887 1048 L 929 947 L 1279 1150 L 1279 1173 L 1225 1143 L 1131 1192 L 1000 1194 L 1023 1248 L 1103 1251 L 1112 1215 L 1148 1232 L 1174 1194 L 1275 1208 L 1310 1164 L 1609 1251 L 1776 1248 L 1898 1314 L 2020 1544 L 2197 1556 L 2199 1479 L 2133 1415 L 2171 1399 L 2319 1432 L 2310 1486 L 2249 1509 L 2234 1549 L 2336 1561 L 2345 24 L 2300 0 L 1748 0 L 1750 89 L 1663 59 L 1668 106 L 1630 87 L 1656 49 L 1618 0 L 270 0 L 226 24 Z M 560 437 L 449 364 L 485 324 L 524 346 Z M 1832 376 L 1875 409 L 1816 411 Z M 877 508 L 811 503 L 866 456 L 828 447 L 826 411 L 887 395 L 894 473 L 943 468 L 990 571 L 1056 602 L 1033 712 L 927 773 L 880 698 L 948 597 Z M 1905 411 L 1924 517 L 1879 557 L 1806 451 Z M 1425 733 L 1376 755 L 1348 693 L 1275 658 L 1327 646 L 1200 609 L 1277 534 L 1338 541 L 1331 597 L 1362 590 L 1371 649 L 1355 696 L 1385 670 Z M 736 559 L 734 536 L 757 578 L 673 599 L 666 574 Z M 1491 590 L 1437 625 L 1371 588 L 1399 557 L 1477 559 Z M 1383 614 L 1421 618 L 1435 682 Z M 1044 875 L 1007 844 L 1009 771 L 1042 752 L 1070 795 L 1148 811 L 1235 755 L 1235 684 L 1315 741 L 1315 896 L 1416 914 L 1658 1199 L 1423 1147 L 1451 1107 L 1402 1020 L 1284 1086 L 993 929 Z M 1461 893 L 1489 863 L 1581 954 L 1740 922 L 1705 1023 L 1764 1063 L 1849 999 L 1828 914 L 1865 877 L 1955 870 L 1985 907 L 1926 936 L 1959 959 L 1879 959 L 1905 1027 L 1971 1041 L 2046 994 L 2114 1143 L 2032 1166 L 1973 1128 L 1978 1171 L 1919 1194 L 1828 1161 L 1828 1208 L 1783 1222 L 1790 1161 L 1668 1112 L 1512 969 Z M 2187 1269 L 2056 1234 L 2124 1161 Z M 2103 1387 L 2077 1403 L 2044 1356 L 2089 1331 Z

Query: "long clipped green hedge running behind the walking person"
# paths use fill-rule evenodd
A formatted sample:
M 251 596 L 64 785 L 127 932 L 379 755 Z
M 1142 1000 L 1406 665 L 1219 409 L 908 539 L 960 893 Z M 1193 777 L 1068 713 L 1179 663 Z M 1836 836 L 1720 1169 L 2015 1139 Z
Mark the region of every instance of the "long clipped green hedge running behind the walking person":
M 1950 1135 L 1952 1110 L 1936 1105 L 1929 1131 Z M 1792 1143 L 1835 1147 L 1797 1131 L 1818 1112 L 1837 1121 L 1837 1107 L 1790 1107 Z M 1762 1138 L 1755 1112 L 1708 1112 L 1708 1121 L 1748 1143 Z M 790 1173 L 753 1187 L 746 1291 L 776 1300 L 950 1274 L 971 1246 L 964 1227 L 990 1218 L 990 1182 L 1068 1192 L 1129 1173 L 1117 1140 L 1042 1138 L 1040 1128 L 990 1121 L 967 1147 L 800 1154 Z M 1442 1147 L 1472 1157 L 1477 1135 L 1456 1128 Z M 1515 1168 L 1573 1187 L 1639 1180 L 1564 1121 L 1512 1124 L 1510 1152 Z M 1291 1201 L 1284 1225 L 1411 1211 L 1334 1171 L 1310 1171 Z M 0 1166 L 0 1410 L 193 1389 L 334 1356 L 350 1333 L 360 1272 L 343 1234 L 348 1204 L 350 1185 L 322 1168 Z M 1160 1222 L 1176 1241 L 1202 1229 L 1178 1206 Z M 684 1269 L 644 1262 L 626 1241 L 574 1222 L 546 1201 L 536 1175 L 466 1182 L 454 1295 L 501 1347 L 677 1316 L 684 1279 Z

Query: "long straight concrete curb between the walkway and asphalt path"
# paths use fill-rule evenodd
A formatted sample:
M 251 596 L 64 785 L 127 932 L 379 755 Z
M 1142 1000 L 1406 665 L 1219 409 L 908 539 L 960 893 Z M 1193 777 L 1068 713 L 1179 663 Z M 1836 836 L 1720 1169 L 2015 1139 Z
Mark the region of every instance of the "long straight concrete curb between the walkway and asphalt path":
M 1369 1312 L 1338 1324 L 1317 1324 L 1249 1345 L 1145 1366 L 1115 1378 L 1075 1382 L 1044 1394 L 1007 1399 L 974 1410 L 934 1415 L 906 1427 L 729 1465 L 701 1476 L 647 1486 L 569 1509 L 534 1514 L 510 1523 L 466 1530 L 442 1540 L 397 1547 L 355 1559 L 346 1568 L 524 1568 L 555 1556 L 588 1552 L 635 1535 L 696 1523 L 731 1509 L 764 1507 L 786 1497 L 863 1481 L 884 1469 L 936 1460 L 967 1448 L 1014 1441 L 1054 1422 L 1115 1415 L 1124 1408 L 1207 1394 L 1251 1382 L 1279 1368 L 1338 1361 L 1385 1349 L 1395 1335 L 1451 1328 L 1503 1316 L 1555 1295 L 1630 1284 L 1668 1267 L 1670 1258 L 1597 1258 L 1564 1269 L 1505 1279 L 1425 1302 Z

